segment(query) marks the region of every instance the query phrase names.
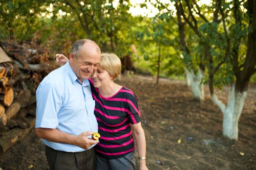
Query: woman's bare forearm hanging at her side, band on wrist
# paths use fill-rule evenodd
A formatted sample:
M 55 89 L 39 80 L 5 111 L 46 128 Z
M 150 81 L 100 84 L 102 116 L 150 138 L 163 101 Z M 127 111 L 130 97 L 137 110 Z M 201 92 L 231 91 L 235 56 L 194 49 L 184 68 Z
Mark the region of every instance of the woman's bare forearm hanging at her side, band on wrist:
M 144 130 L 141 127 L 141 123 L 131 124 L 133 136 L 136 140 L 137 150 L 139 154 L 139 158 L 146 157 L 146 139 Z M 140 159 L 140 169 L 139 170 L 148 170 L 146 167 L 146 160 Z

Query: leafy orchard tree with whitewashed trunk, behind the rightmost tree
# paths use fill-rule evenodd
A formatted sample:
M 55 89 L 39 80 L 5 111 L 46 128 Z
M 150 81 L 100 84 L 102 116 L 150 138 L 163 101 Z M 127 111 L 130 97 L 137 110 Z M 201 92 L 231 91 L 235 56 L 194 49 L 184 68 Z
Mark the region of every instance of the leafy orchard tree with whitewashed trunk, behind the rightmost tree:
M 176 45 L 176 48 L 180 50 L 180 54 L 177 57 L 183 58 L 186 85 L 191 87 L 194 99 L 204 101 L 204 56 L 195 50 L 198 46 L 199 38 L 186 25 L 179 1 L 174 1 L 174 3 L 161 3 L 157 1 L 157 4 L 154 5 L 160 11 L 158 15 L 167 16 L 169 21 L 171 21 L 167 22 L 167 25 L 170 26 L 175 23 L 175 30 L 179 33 L 179 35 L 176 35 L 176 37 L 179 37 L 177 38 L 179 43 Z M 198 23 L 195 23 L 195 25 L 197 26 Z M 174 32 L 171 28 L 173 27 L 168 28 L 169 32 Z

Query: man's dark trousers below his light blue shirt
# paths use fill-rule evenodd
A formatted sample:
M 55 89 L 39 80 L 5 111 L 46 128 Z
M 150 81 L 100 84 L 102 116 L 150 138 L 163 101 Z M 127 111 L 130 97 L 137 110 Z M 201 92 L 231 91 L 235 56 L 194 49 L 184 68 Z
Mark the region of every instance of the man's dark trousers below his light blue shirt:
M 62 152 L 46 146 L 46 158 L 50 170 L 95 170 L 96 154 L 94 148 L 84 152 Z

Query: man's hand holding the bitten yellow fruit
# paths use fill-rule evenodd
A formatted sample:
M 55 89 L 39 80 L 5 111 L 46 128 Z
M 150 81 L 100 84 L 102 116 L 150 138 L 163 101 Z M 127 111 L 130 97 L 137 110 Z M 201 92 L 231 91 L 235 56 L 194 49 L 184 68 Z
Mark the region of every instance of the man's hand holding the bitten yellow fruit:
M 93 144 L 96 144 L 98 140 L 93 140 L 91 138 L 88 138 L 87 136 L 93 135 L 94 132 L 83 132 L 80 135 L 77 136 L 76 145 L 83 149 L 89 149 Z

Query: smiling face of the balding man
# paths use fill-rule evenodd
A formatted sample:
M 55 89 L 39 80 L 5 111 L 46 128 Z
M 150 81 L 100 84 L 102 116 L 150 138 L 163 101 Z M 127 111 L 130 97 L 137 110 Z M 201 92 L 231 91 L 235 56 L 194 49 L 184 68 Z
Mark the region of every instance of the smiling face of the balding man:
M 70 65 L 80 81 L 81 79 L 88 79 L 100 62 L 100 53 L 94 48 L 90 48 L 90 44 L 86 45 L 80 49 L 78 56 L 74 56 L 73 53 L 70 54 Z

